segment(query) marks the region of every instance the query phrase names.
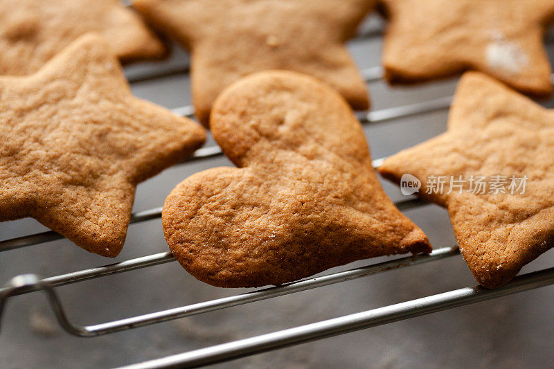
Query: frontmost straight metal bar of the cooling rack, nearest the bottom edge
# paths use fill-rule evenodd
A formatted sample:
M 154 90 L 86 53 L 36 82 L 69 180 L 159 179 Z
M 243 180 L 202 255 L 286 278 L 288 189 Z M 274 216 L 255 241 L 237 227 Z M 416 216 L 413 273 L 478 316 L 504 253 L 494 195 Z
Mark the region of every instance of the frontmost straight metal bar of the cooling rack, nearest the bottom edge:
M 144 361 L 122 368 L 126 369 L 162 369 L 162 368 L 197 368 L 222 361 L 259 354 L 279 348 L 286 348 L 300 343 L 325 339 L 339 334 L 364 330 L 377 325 L 402 321 L 416 316 L 440 312 L 454 307 L 479 303 L 517 294 L 539 287 L 554 285 L 554 268 L 535 271 L 518 276 L 510 284 L 498 289 L 485 289 L 481 286 L 465 287 L 447 291 L 416 300 L 379 307 L 377 309 L 341 316 L 339 318 L 301 325 L 300 327 L 280 330 L 248 339 L 241 339 L 221 345 L 171 355 L 161 359 Z

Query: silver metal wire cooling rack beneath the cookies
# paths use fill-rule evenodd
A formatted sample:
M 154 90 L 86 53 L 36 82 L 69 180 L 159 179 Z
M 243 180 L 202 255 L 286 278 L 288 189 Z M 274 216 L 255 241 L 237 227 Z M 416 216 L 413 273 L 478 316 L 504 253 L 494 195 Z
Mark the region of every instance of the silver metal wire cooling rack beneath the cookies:
M 370 39 L 372 37 L 378 37 L 380 34 L 381 30 L 379 28 L 369 29 L 364 33 L 361 33 L 358 39 Z M 552 42 L 552 37 L 549 37 L 547 42 Z M 166 66 L 165 68 L 150 71 L 127 73 L 127 79 L 130 83 L 134 83 L 164 78 L 182 73 L 188 73 L 187 64 Z M 380 67 L 364 69 L 361 73 L 368 83 L 382 79 L 382 69 Z M 431 111 L 440 109 L 447 109 L 451 102 L 452 96 L 445 96 L 411 105 L 358 113 L 357 116 L 363 124 L 384 122 L 386 120 L 394 120 L 416 114 L 427 114 Z M 194 109 L 191 106 L 179 107 L 177 109 L 173 109 L 172 111 L 181 116 L 192 117 L 194 114 Z M 190 163 L 192 161 L 199 161 L 221 155 L 222 152 L 220 147 L 203 147 L 179 165 L 185 165 L 186 163 Z M 384 158 L 375 159 L 373 161 L 373 167 L 378 168 L 383 160 Z M 424 201 L 416 198 L 409 198 L 395 202 L 395 205 L 400 210 L 417 208 L 425 204 L 426 203 Z M 131 223 L 141 223 L 149 219 L 156 219 L 159 217 L 161 217 L 161 207 L 152 208 L 150 210 L 133 213 Z M 61 238 L 63 238 L 61 235 L 53 231 L 46 231 L 25 235 L 23 237 L 12 238 L 9 240 L 3 240 L 0 241 L 0 252 L 42 244 L 44 242 L 59 240 Z M 443 247 L 435 249 L 430 255 L 413 255 L 404 258 L 391 258 L 391 260 L 386 262 L 369 264 L 366 267 L 339 271 L 337 273 L 330 273 L 315 278 L 306 278 L 304 280 L 290 282 L 278 287 L 267 287 L 245 294 L 208 300 L 204 303 L 196 303 L 193 305 L 166 309 L 158 312 L 152 312 L 150 314 L 131 316 L 129 318 L 109 321 L 107 323 L 82 326 L 69 321 L 64 311 L 64 305 L 57 296 L 56 287 L 175 261 L 175 258 L 173 258 L 170 252 L 154 253 L 141 258 L 134 258 L 115 264 L 104 265 L 102 267 L 74 271 L 72 273 L 65 273 L 49 278 L 41 278 L 35 274 L 15 276 L 0 289 L 0 319 L 3 309 L 6 307 L 7 301 L 12 296 L 42 291 L 46 294 L 57 321 L 64 330 L 75 336 L 100 336 L 103 334 L 110 334 L 113 332 L 130 330 L 136 327 L 143 327 L 145 325 L 170 321 L 172 319 L 213 312 L 215 310 L 226 309 L 269 298 L 276 298 L 287 294 L 294 294 L 308 289 L 316 289 L 318 287 L 332 285 L 347 280 L 372 276 L 377 273 L 384 273 L 393 269 L 413 267 L 418 264 L 450 258 L 458 254 L 456 246 Z M 453 307 L 469 305 L 479 301 L 490 300 L 492 298 L 516 294 L 521 291 L 527 291 L 553 284 L 554 267 L 517 276 L 508 285 L 499 289 L 488 290 L 480 286 L 455 289 L 442 294 L 435 294 L 415 300 L 409 300 L 403 303 L 379 307 L 377 309 L 370 309 L 357 314 L 350 314 L 339 318 L 319 321 L 317 323 L 301 325 L 287 330 L 253 336 L 249 339 L 231 341 L 229 343 L 213 345 L 199 350 L 163 357 L 161 359 L 145 361 L 143 363 L 137 363 L 129 366 L 128 368 L 184 368 L 204 366 L 211 363 L 229 361 L 231 359 L 237 359 L 251 354 L 285 348 L 287 346 L 323 339 L 330 336 L 346 334 L 348 332 L 354 332 L 368 327 L 384 325 L 386 323 L 431 314 L 445 309 L 452 309 Z

